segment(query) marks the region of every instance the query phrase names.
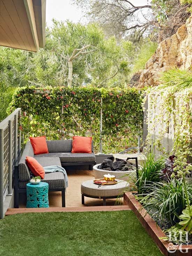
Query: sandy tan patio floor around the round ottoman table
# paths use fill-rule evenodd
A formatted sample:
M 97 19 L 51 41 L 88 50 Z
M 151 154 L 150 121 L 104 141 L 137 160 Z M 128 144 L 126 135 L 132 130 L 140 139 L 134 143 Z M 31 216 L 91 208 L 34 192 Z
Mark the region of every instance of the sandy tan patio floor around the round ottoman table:
M 94 179 L 93 171 L 67 170 L 69 184 L 66 192 L 66 207 L 102 206 L 102 199 L 85 197 L 85 204 L 81 204 L 81 183 Z M 26 200 L 26 198 L 25 198 Z M 20 207 L 26 207 L 26 201 L 20 202 Z M 116 199 L 107 199 L 107 205 L 115 205 Z M 49 206 L 61 207 L 61 192 L 49 192 Z

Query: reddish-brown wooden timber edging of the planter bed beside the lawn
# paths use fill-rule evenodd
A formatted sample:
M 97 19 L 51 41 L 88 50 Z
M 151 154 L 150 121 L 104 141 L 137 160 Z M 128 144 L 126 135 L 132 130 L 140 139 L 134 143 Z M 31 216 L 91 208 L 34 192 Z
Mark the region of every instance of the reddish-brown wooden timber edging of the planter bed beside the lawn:
M 131 192 L 124 193 L 124 205 L 128 205 L 130 209 L 135 213 L 145 228 L 147 233 L 153 238 L 158 248 L 165 256 L 192 256 L 192 245 L 172 246 L 169 241 L 159 239 L 159 237 L 165 237 L 166 235 L 162 229 L 156 224 L 156 222 L 150 217 L 147 211 L 142 205 L 135 199 Z M 171 249 L 172 248 L 172 249 Z M 186 252 L 186 249 L 188 250 Z

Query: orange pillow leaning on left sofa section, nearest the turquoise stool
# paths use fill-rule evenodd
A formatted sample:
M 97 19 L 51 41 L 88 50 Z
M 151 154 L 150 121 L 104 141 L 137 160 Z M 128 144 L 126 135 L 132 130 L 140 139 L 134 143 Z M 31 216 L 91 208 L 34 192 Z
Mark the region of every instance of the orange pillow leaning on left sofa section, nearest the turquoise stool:
M 45 170 L 35 158 L 31 156 L 26 156 L 26 164 L 33 175 L 40 176 L 42 179 L 44 179 Z

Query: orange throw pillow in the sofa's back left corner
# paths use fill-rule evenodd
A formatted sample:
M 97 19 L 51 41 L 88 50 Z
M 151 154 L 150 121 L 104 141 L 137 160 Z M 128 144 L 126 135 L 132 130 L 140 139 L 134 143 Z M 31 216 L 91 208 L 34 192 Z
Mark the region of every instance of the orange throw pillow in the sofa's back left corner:
M 35 155 L 49 153 L 45 136 L 29 137 Z

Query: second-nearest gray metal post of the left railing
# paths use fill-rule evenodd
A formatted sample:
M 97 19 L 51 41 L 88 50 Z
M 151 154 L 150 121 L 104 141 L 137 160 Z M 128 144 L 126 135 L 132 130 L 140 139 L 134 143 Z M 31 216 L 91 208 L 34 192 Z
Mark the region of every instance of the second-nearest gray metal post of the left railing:
M 12 195 L 12 121 L 9 120 L 9 160 L 8 160 L 8 195 Z

